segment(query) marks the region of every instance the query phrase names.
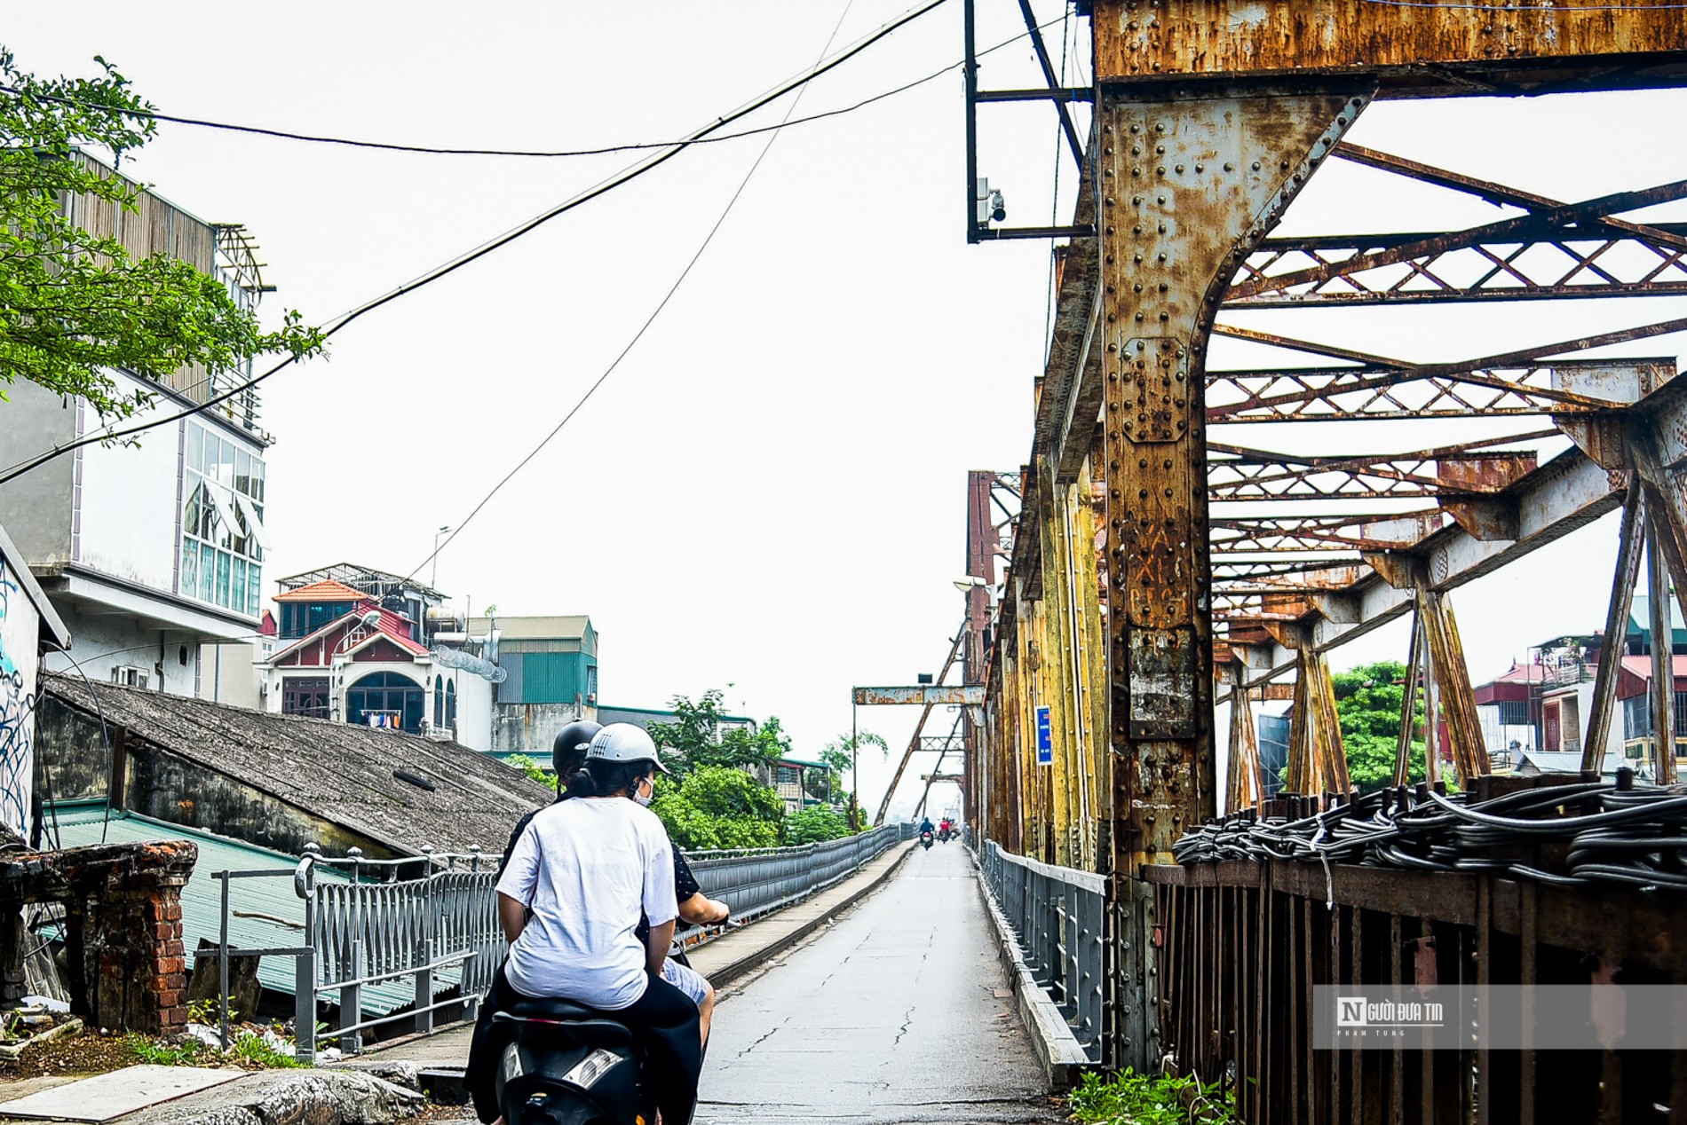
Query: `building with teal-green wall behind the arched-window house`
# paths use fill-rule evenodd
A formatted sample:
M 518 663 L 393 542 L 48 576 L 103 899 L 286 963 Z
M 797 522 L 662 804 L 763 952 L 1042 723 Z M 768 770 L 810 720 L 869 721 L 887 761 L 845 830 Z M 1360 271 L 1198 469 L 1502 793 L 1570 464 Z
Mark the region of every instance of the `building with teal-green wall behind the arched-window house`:
M 493 634 L 504 680 L 493 703 L 491 749 L 548 761 L 552 739 L 575 719 L 611 722 L 597 707 L 597 631 L 590 617 L 469 621 L 471 638 Z

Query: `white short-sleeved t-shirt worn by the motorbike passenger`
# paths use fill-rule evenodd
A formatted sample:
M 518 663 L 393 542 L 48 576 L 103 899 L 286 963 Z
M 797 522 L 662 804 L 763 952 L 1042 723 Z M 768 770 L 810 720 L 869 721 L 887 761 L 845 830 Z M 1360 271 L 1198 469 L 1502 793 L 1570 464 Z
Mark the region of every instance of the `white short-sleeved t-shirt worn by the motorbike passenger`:
M 540 811 L 521 833 L 498 892 L 533 918 L 509 946 L 516 992 L 617 1010 L 644 995 L 639 912 L 678 916 L 673 845 L 648 808 L 626 798 L 575 798 Z

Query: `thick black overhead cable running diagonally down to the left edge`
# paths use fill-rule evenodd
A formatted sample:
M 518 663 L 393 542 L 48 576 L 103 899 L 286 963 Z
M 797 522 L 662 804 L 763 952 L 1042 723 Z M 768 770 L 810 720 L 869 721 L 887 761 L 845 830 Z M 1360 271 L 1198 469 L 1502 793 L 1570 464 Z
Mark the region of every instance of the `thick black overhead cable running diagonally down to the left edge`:
M 943 3 L 946 3 L 946 0 L 931 0 L 930 3 L 924 3 L 924 5 L 921 5 L 921 7 L 918 7 L 918 8 L 911 10 L 911 12 L 908 12 L 906 15 L 901 15 L 901 17 L 891 20 L 884 27 L 881 27 L 876 32 L 872 32 L 870 35 L 857 40 L 855 44 L 852 44 L 845 51 L 840 51 L 838 54 L 832 56 L 825 62 L 822 62 L 822 64 L 818 64 L 818 66 L 805 71 L 803 74 L 800 74 L 800 76 L 796 76 L 796 78 L 793 78 L 793 79 L 790 79 L 786 83 L 781 83 L 779 86 L 776 86 L 769 93 L 761 94 L 759 98 L 754 98 L 747 105 L 744 105 L 744 106 L 741 106 L 741 108 L 737 108 L 737 110 L 734 110 L 734 111 L 730 111 L 730 113 L 727 113 L 724 116 L 715 118 L 714 123 L 705 125 L 703 128 L 693 132 L 687 138 L 671 143 L 668 148 L 665 148 L 661 152 L 656 152 L 656 153 L 646 157 L 644 160 L 639 160 L 639 162 L 636 162 L 636 164 L 623 169 L 621 172 L 616 172 L 609 179 L 599 182 L 596 187 L 589 187 L 587 191 L 574 196 L 572 199 L 569 199 L 569 201 L 565 201 L 565 202 L 562 202 L 562 204 L 558 204 L 558 206 L 555 206 L 555 207 L 552 207 L 552 209 L 548 209 L 548 211 L 535 216 L 535 218 L 528 219 L 526 223 L 516 226 L 515 229 L 506 231 L 504 234 L 499 234 L 498 238 L 494 238 L 494 240 L 491 240 L 488 243 L 482 243 L 481 246 L 477 246 L 477 248 L 474 248 L 474 250 L 471 250 L 471 251 L 467 251 L 464 255 L 459 255 L 457 258 L 452 258 L 445 265 L 440 265 L 440 266 L 437 266 L 434 270 L 428 270 L 427 273 L 420 275 L 418 278 L 415 278 L 412 282 L 405 282 L 403 285 L 400 285 L 400 287 L 396 287 L 393 290 L 388 290 L 386 293 L 383 293 L 383 295 L 380 295 L 380 297 L 376 297 L 373 300 L 368 300 L 368 302 L 358 305 L 356 309 L 353 309 L 353 310 L 349 310 L 346 314 L 341 314 L 339 317 L 336 317 L 336 319 L 332 319 L 329 322 L 329 327 L 324 331 L 322 337 L 324 339 L 332 337 L 336 332 L 339 332 L 344 327 L 351 326 L 359 317 L 363 317 L 363 315 L 366 315 L 369 312 L 375 312 L 381 305 L 391 304 L 391 302 L 398 300 L 400 297 L 407 297 L 407 295 L 410 295 L 410 293 L 413 293 L 413 292 L 417 292 L 420 288 L 425 288 L 427 285 L 432 285 L 434 282 L 437 282 L 437 280 L 440 280 L 440 278 L 444 278 L 444 277 L 447 277 L 450 273 L 455 273 L 457 270 L 461 270 L 462 266 L 469 265 L 471 261 L 477 261 L 477 260 L 484 258 L 486 255 L 489 255 L 489 253 L 493 253 L 493 251 L 496 251 L 496 250 L 499 250 L 503 246 L 508 246 L 509 243 L 516 241 L 518 238 L 521 238 L 525 234 L 530 234 L 531 231 L 538 229 L 545 223 L 550 223 L 557 216 L 567 214 L 569 211 L 574 211 L 575 207 L 579 207 L 582 204 L 587 204 L 592 199 L 597 199 L 599 196 L 606 196 L 611 191 L 614 191 L 617 187 L 623 187 L 624 184 L 629 184 L 629 182 L 636 180 L 638 177 L 644 175 L 646 172 L 651 172 L 653 169 L 661 167 L 663 164 L 666 164 L 673 157 L 680 155 L 682 152 L 685 152 L 687 148 L 690 148 L 692 145 L 695 145 L 703 137 L 709 137 L 709 135 L 712 135 L 712 133 L 725 128 L 732 121 L 737 121 L 737 120 L 741 120 L 744 116 L 749 116 L 756 110 L 759 110 L 759 108 L 763 108 L 763 106 L 766 106 L 766 105 L 769 105 L 773 101 L 778 101 L 779 98 L 783 98 L 784 94 L 791 93 L 793 89 L 800 89 L 801 86 L 806 86 L 808 83 L 811 83 L 813 79 L 820 78 L 822 74 L 837 69 L 844 62 L 854 59 L 860 52 L 864 52 L 869 47 L 872 47 L 876 42 L 879 42 L 879 40 L 886 39 L 887 35 L 894 34 L 897 29 L 906 27 L 908 24 L 913 24 L 914 20 L 918 20 L 923 15 L 926 15 L 928 12 L 933 12 L 933 10 L 940 8 L 940 7 L 943 7 Z M 945 69 L 951 69 L 951 67 L 945 67 Z M 88 433 L 84 437 L 79 437 L 79 439 L 76 439 L 73 442 L 64 442 L 62 445 L 54 445 L 52 449 L 49 449 L 46 452 L 40 452 L 40 454 L 37 454 L 34 457 L 29 457 L 25 460 L 20 460 L 20 462 L 10 466 L 8 469 L 5 469 L 3 472 L 0 472 L 0 484 L 5 484 L 8 481 L 15 481 L 17 477 L 24 476 L 25 472 L 30 472 L 32 469 L 37 469 L 37 467 L 47 464 L 49 460 L 54 460 L 56 457 L 62 457 L 64 454 L 67 454 L 71 450 L 76 450 L 76 449 L 81 449 L 84 445 L 93 445 L 96 442 L 121 440 L 121 439 L 127 439 L 127 437 L 133 437 L 137 433 L 143 433 L 147 430 L 157 428 L 160 425 L 170 425 L 174 422 L 181 422 L 182 418 L 189 418 L 192 415 L 204 413 L 211 406 L 224 403 L 224 401 L 228 401 L 231 398 L 236 398 L 238 395 L 243 395 L 245 391 L 251 390 L 253 386 L 258 386 L 260 383 L 263 383 L 270 376 L 273 376 L 273 374 L 277 374 L 280 371 L 285 371 L 294 363 L 297 363 L 297 358 L 295 356 L 288 356 L 287 359 L 282 359 L 280 363 L 277 363 L 275 366 L 268 368 L 261 374 L 256 374 L 256 376 L 253 376 L 253 378 L 250 378 L 250 379 L 246 379 L 243 383 L 236 383 L 229 390 L 226 390 L 226 391 L 223 391 L 219 395 L 213 395 L 211 398 L 208 398 L 202 403 L 197 403 L 197 405 L 189 406 L 186 410 L 179 410 L 179 412 L 165 415 L 162 418 L 154 418 L 150 422 L 138 422 L 135 425 L 121 427 L 121 428 L 116 428 L 116 430 L 113 430 L 113 428 L 101 428 L 101 430 L 96 430 L 96 432 Z

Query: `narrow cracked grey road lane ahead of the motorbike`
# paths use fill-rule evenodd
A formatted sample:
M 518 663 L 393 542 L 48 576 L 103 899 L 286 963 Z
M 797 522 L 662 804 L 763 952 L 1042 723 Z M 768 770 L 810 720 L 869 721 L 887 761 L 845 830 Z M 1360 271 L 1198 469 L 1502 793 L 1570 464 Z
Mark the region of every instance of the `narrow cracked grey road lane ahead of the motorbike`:
M 725 992 L 698 1125 L 1063 1120 L 989 933 L 962 845 L 916 850 L 877 894 Z

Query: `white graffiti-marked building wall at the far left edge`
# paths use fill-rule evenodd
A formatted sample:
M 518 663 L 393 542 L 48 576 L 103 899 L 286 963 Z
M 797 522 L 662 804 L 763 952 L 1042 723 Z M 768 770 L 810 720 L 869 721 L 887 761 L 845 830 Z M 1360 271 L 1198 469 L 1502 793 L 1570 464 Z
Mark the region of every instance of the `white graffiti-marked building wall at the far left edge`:
M 40 656 L 69 646 L 71 636 L 46 590 L 0 528 L 0 843 L 8 833 L 34 843 Z

